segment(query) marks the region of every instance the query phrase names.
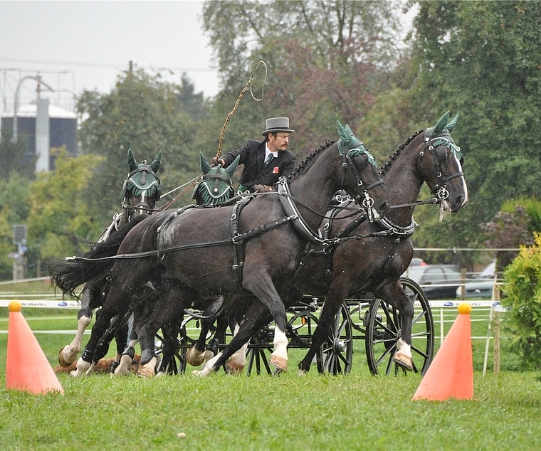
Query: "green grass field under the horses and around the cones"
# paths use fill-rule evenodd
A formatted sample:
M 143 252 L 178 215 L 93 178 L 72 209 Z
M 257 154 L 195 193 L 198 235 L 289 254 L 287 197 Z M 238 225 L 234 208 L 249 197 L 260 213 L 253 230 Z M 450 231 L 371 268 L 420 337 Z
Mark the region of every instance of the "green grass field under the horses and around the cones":
M 6 330 L 8 312 L 1 310 L 0 330 Z M 450 310 L 445 314 L 446 330 L 457 314 Z M 23 315 L 33 331 L 75 329 L 76 310 L 26 308 Z M 472 335 L 486 336 L 488 312 L 474 309 L 472 319 Z M 73 334 L 36 333 L 36 337 L 56 366 L 58 350 Z M 516 357 L 505 350 L 505 340 L 502 371 L 495 376 L 489 359 L 489 371 L 483 376 L 485 342 L 473 340 L 473 400 L 411 401 L 421 377 L 370 376 L 360 343 L 355 344 L 348 376 L 320 376 L 314 370 L 298 376 L 295 366 L 304 355 L 300 349 L 291 352 L 290 371 L 279 377 L 233 377 L 220 372 L 204 379 L 186 374 L 145 380 L 61 374 L 63 396 L 2 391 L 1 448 L 540 449 L 539 376 L 512 371 Z M 436 336 L 436 349 L 438 345 Z M 6 334 L 0 334 L 4 387 L 5 364 Z

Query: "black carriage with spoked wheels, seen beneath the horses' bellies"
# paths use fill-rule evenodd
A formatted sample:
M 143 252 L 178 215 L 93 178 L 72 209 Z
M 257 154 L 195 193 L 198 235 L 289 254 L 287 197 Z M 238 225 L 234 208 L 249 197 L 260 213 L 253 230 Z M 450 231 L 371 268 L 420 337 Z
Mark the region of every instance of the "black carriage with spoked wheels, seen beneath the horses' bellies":
M 415 306 L 412 349 L 414 372 L 424 374 L 434 356 L 434 319 L 429 301 L 422 288 L 409 277 L 401 277 L 401 285 Z M 319 322 L 319 312 L 325 296 L 305 295 L 297 305 L 288 307 L 288 348 L 308 349 L 312 334 Z M 158 371 L 167 374 L 184 373 L 189 368 L 187 351 L 194 346 L 201 330 L 201 313 L 187 311 L 177 339 L 172 342 L 174 351 L 168 359 L 162 359 Z M 396 341 L 401 329 L 400 312 L 378 299 L 372 293 L 359 293 L 348 297 L 340 306 L 325 344 L 316 354 L 318 371 L 328 374 L 347 374 L 353 366 L 355 352 L 364 347 L 370 373 L 377 375 L 406 374 L 406 370 L 394 363 Z M 214 329 L 212 332 L 215 332 Z M 230 336 L 209 337 L 207 347 L 217 354 L 226 346 Z M 164 343 L 169 341 L 167 328 L 157 334 L 157 347 L 162 354 Z M 253 335 L 246 351 L 246 374 L 271 374 L 275 371 L 269 363 L 273 349 L 273 323 L 267 324 Z M 359 354 L 362 354 L 359 353 Z

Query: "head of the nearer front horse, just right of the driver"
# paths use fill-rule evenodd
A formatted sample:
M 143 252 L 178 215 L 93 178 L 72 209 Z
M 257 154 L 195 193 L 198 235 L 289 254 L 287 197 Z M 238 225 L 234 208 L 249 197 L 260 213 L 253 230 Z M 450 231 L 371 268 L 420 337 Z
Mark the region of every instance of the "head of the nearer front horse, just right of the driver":
M 367 147 L 359 137 L 352 132 L 348 124 L 344 127 L 340 121 L 337 120 L 336 122 L 338 136 L 340 137 L 337 142 L 338 152 L 342 156 L 341 186 L 345 184 L 346 167 L 349 165 L 352 169 L 351 172 L 355 178 L 355 183 L 361 190 L 361 193 L 355 197 L 355 202 L 359 203 L 367 211 L 370 221 L 373 221 L 389 209 L 389 204 L 386 201 L 381 203 L 377 208 L 374 208 L 374 198 L 372 198 L 369 192 L 372 189 L 386 191 L 383 186 L 383 180 L 379 175 L 376 159 L 368 152 Z M 367 166 L 373 166 L 374 169 L 372 171 L 364 171 Z M 384 197 L 387 198 L 386 196 Z

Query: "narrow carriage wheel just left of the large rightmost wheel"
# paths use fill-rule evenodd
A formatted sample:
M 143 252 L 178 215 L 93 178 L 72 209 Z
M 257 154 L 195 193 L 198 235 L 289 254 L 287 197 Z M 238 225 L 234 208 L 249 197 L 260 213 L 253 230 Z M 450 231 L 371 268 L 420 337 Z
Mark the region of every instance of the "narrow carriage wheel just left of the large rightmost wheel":
M 316 354 L 320 373 L 349 374 L 353 360 L 352 321 L 347 305 L 342 303 L 327 340 Z

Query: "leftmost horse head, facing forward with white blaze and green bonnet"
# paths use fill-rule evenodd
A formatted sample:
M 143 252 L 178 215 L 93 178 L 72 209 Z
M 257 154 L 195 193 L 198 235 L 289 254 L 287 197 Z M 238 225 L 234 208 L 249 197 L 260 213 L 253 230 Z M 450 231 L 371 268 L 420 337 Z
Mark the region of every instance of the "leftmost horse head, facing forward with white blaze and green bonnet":
M 122 208 L 125 210 L 128 221 L 134 212 L 150 214 L 156 201 L 161 196 L 159 177 L 156 175 L 161 164 L 162 151 L 160 150 L 151 164 L 147 160 L 137 164 L 132 149 L 127 149 L 127 166 L 130 172 L 122 187 Z

